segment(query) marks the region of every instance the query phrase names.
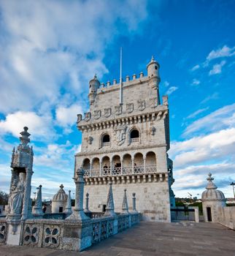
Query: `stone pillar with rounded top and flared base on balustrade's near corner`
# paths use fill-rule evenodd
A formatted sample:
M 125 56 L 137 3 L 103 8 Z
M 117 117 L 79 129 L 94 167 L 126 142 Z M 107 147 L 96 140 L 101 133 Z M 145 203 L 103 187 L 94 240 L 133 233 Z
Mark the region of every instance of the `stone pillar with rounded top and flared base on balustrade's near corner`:
M 75 192 L 75 207 L 73 213 L 67 217 L 66 219 L 77 219 L 77 220 L 86 220 L 90 219 L 87 217 L 83 211 L 83 195 L 84 195 L 84 170 L 78 169 L 77 177 L 74 178 L 74 183 L 76 185 L 76 192 Z

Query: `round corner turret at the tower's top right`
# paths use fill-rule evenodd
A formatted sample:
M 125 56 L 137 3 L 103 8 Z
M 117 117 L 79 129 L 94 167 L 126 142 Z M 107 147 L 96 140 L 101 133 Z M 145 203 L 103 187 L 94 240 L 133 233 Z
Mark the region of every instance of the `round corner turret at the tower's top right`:
M 149 64 L 147 64 L 147 77 L 149 78 L 149 85 L 151 89 L 157 90 L 158 96 L 158 104 L 160 104 L 160 97 L 159 97 L 159 83 L 161 82 L 161 78 L 159 76 L 159 68 L 160 65 L 152 56 L 152 59 Z

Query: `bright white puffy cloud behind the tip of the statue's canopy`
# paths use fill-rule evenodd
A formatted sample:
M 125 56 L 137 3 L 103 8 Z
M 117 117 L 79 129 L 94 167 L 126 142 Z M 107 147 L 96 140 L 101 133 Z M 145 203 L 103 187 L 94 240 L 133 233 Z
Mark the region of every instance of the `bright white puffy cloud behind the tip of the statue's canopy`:
M 28 127 L 32 138 L 39 140 L 53 138 L 55 133 L 51 121 L 50 115 L 38 116 L 34 112 L 18 111 L 7 115 L 5 120 L 0 121 L 0 134 L 11 133 L 18 138 L 23 127 Z

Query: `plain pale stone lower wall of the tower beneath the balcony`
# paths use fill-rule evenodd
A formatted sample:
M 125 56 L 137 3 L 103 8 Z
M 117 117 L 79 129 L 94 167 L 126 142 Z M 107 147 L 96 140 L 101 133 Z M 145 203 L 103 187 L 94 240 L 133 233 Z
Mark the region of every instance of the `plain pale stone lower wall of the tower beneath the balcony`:
M 102 211 L 107 204 L 108 185 L 85 185 L 89 193 L 90 211 Z M 136 193 L 136 208 L 145 220 L 171 222 L 169 184 L 166 181 L 141 184 L 112 184 L 115 211 L 122 211 L 123 190 L 127 189 L 128 206 L 132 209 L 132 193 Z M 85 203 L 85 200 L 84 200 Z

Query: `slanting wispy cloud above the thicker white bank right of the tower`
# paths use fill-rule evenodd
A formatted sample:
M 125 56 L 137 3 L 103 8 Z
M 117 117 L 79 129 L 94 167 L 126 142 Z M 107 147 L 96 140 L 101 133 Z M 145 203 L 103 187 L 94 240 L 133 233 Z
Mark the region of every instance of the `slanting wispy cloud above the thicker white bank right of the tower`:
M 235 104 L 219 108 L 199 120 L 194 121 L 184 131 L 183 135 L 193 132 L 214 132 L 235 126 Z

